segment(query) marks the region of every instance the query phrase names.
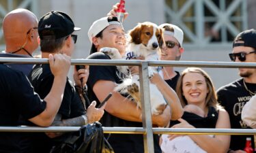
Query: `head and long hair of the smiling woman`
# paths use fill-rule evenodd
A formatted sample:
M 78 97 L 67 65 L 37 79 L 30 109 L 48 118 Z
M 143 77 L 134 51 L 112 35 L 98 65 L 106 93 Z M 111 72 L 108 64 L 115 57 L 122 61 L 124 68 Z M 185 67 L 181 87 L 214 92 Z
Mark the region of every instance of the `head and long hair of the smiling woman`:
M 176 91 L 183 106 L 194 104 L 201 109 L 206 109 L 205 111 L 210 106 L 218 109 L 212 79 L 203 69 L 197 67 L 184 69 L 180 80 L 177 82 Z

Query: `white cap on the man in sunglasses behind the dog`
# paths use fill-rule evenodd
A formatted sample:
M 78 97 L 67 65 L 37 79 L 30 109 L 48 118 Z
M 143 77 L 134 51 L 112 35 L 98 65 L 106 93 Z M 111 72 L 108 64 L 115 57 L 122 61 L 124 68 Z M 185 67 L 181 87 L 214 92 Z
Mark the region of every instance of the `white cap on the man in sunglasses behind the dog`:
M 180 29 L 180 27 L 177 27 L 176 25 L 169 24 L 169 23 L 160 24 L 158 27 L 164 30 L 163 31 L 164 34 L 171 35 L 172 37 L 177 39 L 177 41 L 179 42 L 180 46 L 182 46 L 183 39 L 184 39 L 184 33 L 183 33 L 182 29 Z M 165 31 L 165 27 L 173 28 L 173 32 Z

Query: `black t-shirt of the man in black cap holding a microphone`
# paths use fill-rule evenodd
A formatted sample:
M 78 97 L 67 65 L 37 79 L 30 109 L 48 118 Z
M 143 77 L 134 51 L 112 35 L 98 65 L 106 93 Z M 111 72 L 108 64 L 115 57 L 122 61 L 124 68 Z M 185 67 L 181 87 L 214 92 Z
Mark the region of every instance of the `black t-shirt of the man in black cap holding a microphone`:
M 38 95 L 44 98 L 53 86 L 54 75 L 51 73 L 49 65 L 35 65 L 29 75 L 29 80 L 34 86 L 35 92 L 38 92 Z M 75 118 L 85 114 L 83 102 L 69 79 L 66 82 L 58 114 L 61 114 L 62 119 Z M 62 141 L 65 137 L 66 135 L 62 135 L 61 137 L 50 139 L 44 133 L 37 133 L 34 149 L 36 152 L 49 152 L 53 144 Z

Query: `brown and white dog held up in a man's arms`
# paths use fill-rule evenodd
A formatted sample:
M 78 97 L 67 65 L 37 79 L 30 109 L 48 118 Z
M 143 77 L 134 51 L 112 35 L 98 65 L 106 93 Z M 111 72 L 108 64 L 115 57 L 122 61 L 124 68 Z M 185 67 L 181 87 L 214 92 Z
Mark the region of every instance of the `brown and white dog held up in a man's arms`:
M 126 52 L 126 55 L 123 58 L 130 59 L 143 56 L 145 60 L 158 59 L 157 52 L 159 50 L 160 42 L 162 41 L 162 31 L 156 24 L 152 22 L 139 23 L 137 27 L 130 30 L 129 36 L 128 52 Z M 116 48 L 102 48 L 100 52 L 108 54 L 112 59 L 120 59 L 121 57 Z M 123 73 L 127 73 L 127 67 L 117 66 L 117 69 Z M 157 73 L 156 68 L 149 67 L 149 77 L 152 77 L 154 73 Z M 124 79 L 124 82 L 118 84 L 115 90 L 121 94 L 128 93 L 134 101 L 137 102 L 137 105 L 141 107 L 139 87 L 139 75 L 135 74 L 130 76 L 130 78 Z M 155 115 L 162 114 L 167 105 L 157 86 L 152 83 L 150 83 L 150 103 L 152 114 Z

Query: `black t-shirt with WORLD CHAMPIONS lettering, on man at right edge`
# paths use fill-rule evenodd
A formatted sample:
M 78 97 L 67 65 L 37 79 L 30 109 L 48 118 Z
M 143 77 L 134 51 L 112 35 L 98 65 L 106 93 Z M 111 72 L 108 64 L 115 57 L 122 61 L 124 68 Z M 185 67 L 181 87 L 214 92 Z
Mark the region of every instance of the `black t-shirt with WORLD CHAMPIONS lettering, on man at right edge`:
M 244 105 L 251 99 L 250 93 L 244 88 L 243 79 L 236 80 L 218 89 L 218 102 L 225 107 L 229 113 L 232 129 L 250 129 L 241 119 L 241 112 Z M 247 84 L 249 90 L 255 92 L 256 84 Z M 230 149 L 244 150 L 246 137 L 253 135 L 231 135 Z M 252 144 L 254 148 L 254 143 Z

